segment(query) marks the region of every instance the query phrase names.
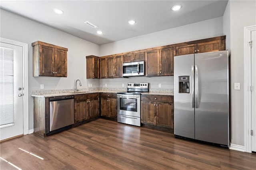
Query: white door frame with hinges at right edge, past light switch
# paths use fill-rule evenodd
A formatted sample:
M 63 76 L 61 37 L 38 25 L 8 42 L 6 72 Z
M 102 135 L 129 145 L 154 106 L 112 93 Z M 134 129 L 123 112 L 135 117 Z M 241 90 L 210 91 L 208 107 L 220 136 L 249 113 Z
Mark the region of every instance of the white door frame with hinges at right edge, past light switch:
M 256 25 L 244 27 L 244 152 L 252 152 L 252 84 L 251 75 L 251 31 L 256 30 Z M 254 43 L 254 45 L 256 45 Z

